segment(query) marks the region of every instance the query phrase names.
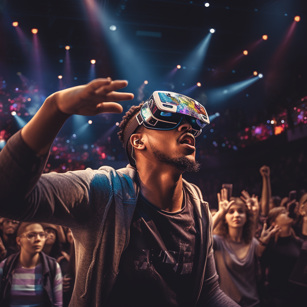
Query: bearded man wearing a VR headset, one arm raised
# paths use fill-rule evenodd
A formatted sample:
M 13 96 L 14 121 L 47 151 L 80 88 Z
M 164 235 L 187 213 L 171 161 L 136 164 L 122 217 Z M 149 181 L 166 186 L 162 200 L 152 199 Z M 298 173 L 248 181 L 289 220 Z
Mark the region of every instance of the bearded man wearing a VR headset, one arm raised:
M 93 80 L 49 96 L 0 152 L 0 216 L 69 227 L 76 245 L 70 306 L 238 306 L 219 288 L 212 218 L 199 188 L 195 137 L 202 105 L 155 91 L 120 124 L 130 165 L 42 174 L 54 138 L 73 114 L 121 113 L 127 81 Z M 18 189 L 18 193 L 15 189 Z

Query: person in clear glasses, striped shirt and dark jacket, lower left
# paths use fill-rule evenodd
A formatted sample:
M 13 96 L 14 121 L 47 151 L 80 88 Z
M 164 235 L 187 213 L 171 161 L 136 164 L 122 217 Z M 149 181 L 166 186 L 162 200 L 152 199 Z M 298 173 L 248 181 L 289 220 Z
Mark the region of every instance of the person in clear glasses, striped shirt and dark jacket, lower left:
M 0 263 L 0 306 L 63 306 L 62 273 L 56 259 L 45 255 L 48 234 L 40 223 L 21 223 L 20 252 Z

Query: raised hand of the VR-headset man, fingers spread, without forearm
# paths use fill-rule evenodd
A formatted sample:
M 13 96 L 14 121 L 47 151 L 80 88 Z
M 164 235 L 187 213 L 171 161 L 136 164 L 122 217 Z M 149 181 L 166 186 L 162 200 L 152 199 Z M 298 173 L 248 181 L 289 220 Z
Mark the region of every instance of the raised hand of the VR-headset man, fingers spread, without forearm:
M 67 115 L 96 115 L 99 113 L 121 113 L 122 106 L 115 101 L 133 99 L 132 93 L 116 92 L 126 87 L 126 80 L 100 78 L 85 85 L 70 87 L 51 95 L 57 109 Z

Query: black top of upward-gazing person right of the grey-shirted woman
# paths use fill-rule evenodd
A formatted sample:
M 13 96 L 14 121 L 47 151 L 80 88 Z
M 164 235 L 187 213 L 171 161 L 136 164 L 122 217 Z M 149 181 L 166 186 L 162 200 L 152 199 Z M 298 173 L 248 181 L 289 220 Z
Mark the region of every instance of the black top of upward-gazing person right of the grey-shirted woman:
M 271 238 L 260 258 L 262 265 L 269 268 L 269 293 L 280 300 L 287 300 L 295 291 L 295 284 L 289 282 L 290 274 L 300 255 L 303 240 L 293 236 Z

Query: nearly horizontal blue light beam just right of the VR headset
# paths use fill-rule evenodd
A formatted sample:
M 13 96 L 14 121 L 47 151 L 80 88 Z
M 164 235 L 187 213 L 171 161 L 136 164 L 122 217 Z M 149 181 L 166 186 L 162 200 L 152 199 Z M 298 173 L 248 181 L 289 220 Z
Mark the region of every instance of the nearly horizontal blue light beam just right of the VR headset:
M 245 88 L 249 87 L 251 84 L 255 83 L 260 78 L 258 76 L 243 80 L 234 84 L 230 84 L 223 87 L 214 88 L 207 92 L 208 101 L 211 103 L 224 101 L 236 94 Z

